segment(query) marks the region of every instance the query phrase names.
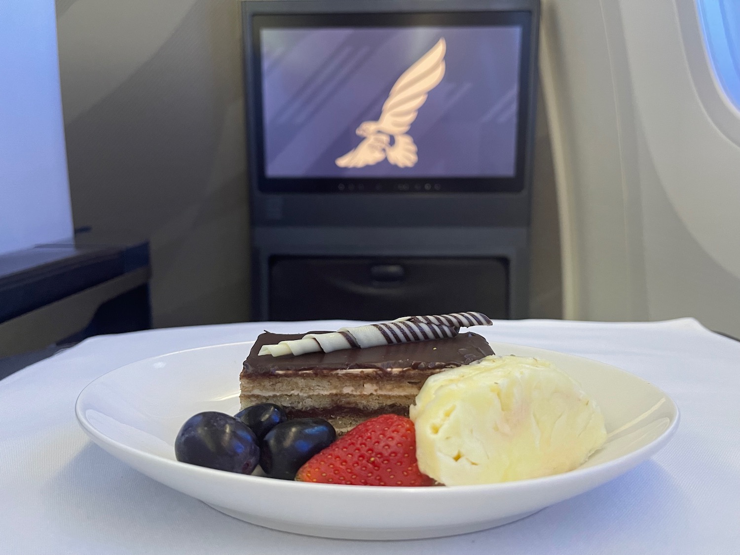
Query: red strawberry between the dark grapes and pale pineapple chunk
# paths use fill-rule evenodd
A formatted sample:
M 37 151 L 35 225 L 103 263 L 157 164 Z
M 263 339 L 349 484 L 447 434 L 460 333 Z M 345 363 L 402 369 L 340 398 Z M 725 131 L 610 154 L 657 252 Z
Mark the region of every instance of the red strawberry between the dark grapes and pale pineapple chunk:
M 414 423 L 397 414 L 383 414 L 355 426 L 301 466 L 295 479 L 351 485 L 434 483 L 419 471 Z

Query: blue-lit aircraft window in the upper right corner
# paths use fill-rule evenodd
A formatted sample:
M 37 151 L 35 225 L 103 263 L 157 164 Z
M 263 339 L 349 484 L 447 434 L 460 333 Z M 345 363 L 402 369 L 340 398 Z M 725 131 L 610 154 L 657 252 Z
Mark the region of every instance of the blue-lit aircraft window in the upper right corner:
M 740 108 L 740 2 L 696 0 L 696 4 L 717 81 Z

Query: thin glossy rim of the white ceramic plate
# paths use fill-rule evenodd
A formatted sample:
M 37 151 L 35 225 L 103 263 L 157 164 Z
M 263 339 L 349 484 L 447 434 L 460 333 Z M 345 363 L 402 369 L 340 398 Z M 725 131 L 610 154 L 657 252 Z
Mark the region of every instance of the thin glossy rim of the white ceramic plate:
M 486 341 L 488 341 L 488 338 L 486 338 Z M 534 346 L 527 346 L 522 345 L 519 343 L 505 343 L 505 342 L 499 342 L 499 341 L 488 341 L 489 344 L 497 344 L 500 346 L 513 346 L 518 348 L 525 348 L 525 349 L 536 349 L 537 351 L 545 351 L 550 352 L 558 355 L 564 355 L 566 357 L 575 357 L 581 360 L 585 360 L 588 363 L 596 363 L 598 365 L 603 366 L 609 366 L 611 369 L 614 369 L 616 371 L 619 371 L 623 374 L 628 374 L 630 377 L 636 380 L 640 380 L 643 383 L 646 383 L 650 387 L 653 387 L 660 391 L 660 393 L 663 395 L 665 400 L 667 400 L 671 406 L 673 406 L 673 411 L 675 411 L 676 417 L 673 419 L 673 421 L 670 423 L 670 425 L 662 431 L 662 433 L 656 437 L 654 440 L 650 441 L 650 443 L 647 443 L 647 445 L 643 445 L 640 448 L 637 448 L 635 451 L 630 451 L 627 454 L 622 455 L 621 457 L 617 457 L 616 459 L 608 460 L 606 462 L 600 462 L 599 464 L 589 466 L 587 468 L 575 468 L 574 470 L 562 472 L 560 474 L 551 474 L 550 476 L 543 476 L 543 477 L 537 477 L 537 478 L 527 478 L 525 480 L 513 480 L 510 482 L 497 482 L 492 484 L 474 484 L 474 485 L 444 485 L 440 487 L 432 487 L 432 488 L 422 488 L 422 487 L 414 487 L 414 486 L 394 486 L 392 488 L 381 488 L 375 485 L 354 485 L 351 488 L 346 488 L 346 485 L 344 484 L 321 484 L 321 483 L 313 483 L 313 482 L 296 482 L 295 480 L 275 480 L 273 478 L 266 478 L 266 477 L 260 477 L 260 476 L 252 476 L 250 474 L 239 474 L 236 472 L 228 472 L 228 471 L 221 471 L 217 470 L 215 468 L 206 468 L 198 465 L 191 465 L 187 462 L 180 462 L 178 460 L 172 460 L 167 459 L 165 457 L 161 457 L 156 454 L 149 453 L 147 451 L 141 451 L 140 449 L 133 448 L 129 445 L 126 445 L 124 443 L 120 443 L 117 440 L 113 440 L 112 438 L 108 437 L 107 435 L 103 434 L 101 431 L 99 431 L 97 428 L 95 428 L 92 423 L 90 423 L 87 420 L 87 417 L 82 414 L 82 408 L 81 403 L 84 402 L 84 396 L 85 394 L 89 394 L 89 389 L 95 385 L 95 383 L 98 383 L 98 381 L 103 380 L 105 377 L 107 377 L 109 374 L 112 374 L 112 372 L 121 371 L 123 369 L 126 369 L 129 366 L 133 366 L 136 364 L 144 363 L 147 360 L 157 360 L 159 358 L 163 357 L 170 357 L 174 354 L 183 354 L 186 352 L 191 351 L 201 351 L 205 349 L 216 349 L 219 347 L 226 347 L 226 346 L 236 346 L 236 345 L 249 345 L 254 344 L 255 340 L 246 340 L 246 341 L 232 341 L 229 343 L 215 343 L 213 345 L 203 345 L 198 347 L 192 347 L 189 349 L 179 349 L 177 351 L 169 351 L 162 354 L 157 354 L 153 357 L 144 357 L 139 360 L 133 360 L 130 363 L 121 365 L 116 367 L 115 369 L 111 369 L 104 374 L 101 374 L 100 376 L 96 377 L 94 380 L 92 380 L 90 383 L 87 384 L 80 393 L 78 394 L 76 400 L 75 400 L 75 417 L 78 421 L 81 428 L 85 431 L 85 433 L 90 436 L 90 438 L 95 441 L 99 446 L 102 446 L 101 443 L 112 445 L 112 447 L 127 452 L 130 456 L 133 457 L 144 457 L 144 459 L 149 460 L 150 462 L 153 462 L 155 464 L 159 465 L 166 465 L 166 467 L 169 468 L 187 468 L 188 471 L 195 472 L 195 474 L 202 474 L 203 477 L 218 477 L 221 480 L 235 480 L 235 482 L 241 482 L 241 483 L 249 483 L 254 482 L 257 480 L 257 484 L 266 484 L 271 483 L 274 484 L 275 488 L 315 488 L 317 491 L 326 491 L 326 488 L 329 488 L 329 491 L 337 492 L 337 491 L 364 491 L 366 493 L 374 492 L 372 495 L 380 495 L 380 496 L 387 496 L 391 494 L 397 494 L 399 491 L 406 491 L 406 492 L 414 492 L 414 495 L 429 495 L 432 497 L 440 497 L 445 495 L 452 495 L 451 492 L 455 492 L 455 494 L 464 494 L 466 491 L 471 491 L 475 493 L 485 493 L 486 491 L 496 491 L 505 493 L 507 490 L 517 490 L 521 488 L 528 488 L 528 487 L 539 487 L 542 485 L 542 487 L 547 487 L 549 485 L 557 485 L 559 482 L 570 482 L 572 480 L 577 480 L 579 478 L 588 479 L 588 477 L 591 477 L 591 475 L 596 474 L 603 474 L 608 473 L 608 471 L 614 467 L 622 467 L 624 465 L 628 465 L 629 468 L 633 468 L 634 465 L 636 465 L 639 461 L 646 460 L 648 457 L 652 456 L 652 454 L 659 451 L 666 443 L 670 441 L 670 439 L 673 437 L 673 434 L 676 433 L 676 430 L 678 429 L 679 423 L 681 421 L 681 411 L 679 410 L 679 406 L 676 404 L 676 402 L 668 395 L 662 388 L 659 388 L 655 384 L 645 380 L 642 377 L 637 376 L 636 374 L 633 374 L 632 372 L 629 372 L 627 370 L 621 369 L 617 366 L 613 366 L 609 363 L 604 363 L 601 360 L 594 360 L 588 357 L 582 357 L 578 354 L 571 354 L 566 353 L 562 351 L 553 351 L 551 349 L 542 349 L 540 347 L 534 347 Z M 567 373 L 567 371 L 566 371 Z M 637 460 L 638 462 L 635 462 L 635 464 L 630 464 Z M 214 474 L 215 473 L 215 474 Z M 620 473 L 621 474 L 621 473 Z M 264 482 L 264 480 L 269 480 L 269 482 Z M 338 488 L 338 490 L 337 490 Z M 440 493 L 437 493 L 440 492 Z M 447 493 L 441 493 L 441 492 L 447 492 Z

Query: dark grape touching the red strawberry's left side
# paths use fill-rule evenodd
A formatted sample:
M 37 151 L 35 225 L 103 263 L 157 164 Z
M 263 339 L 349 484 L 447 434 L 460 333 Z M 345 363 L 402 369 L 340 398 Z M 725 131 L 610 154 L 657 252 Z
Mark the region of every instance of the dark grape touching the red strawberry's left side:
M 260 445 L 260 466 L 271 478 L 293 480 L 307 460 L 337 438 L 323 418 L 297 418 L 272 428 Z

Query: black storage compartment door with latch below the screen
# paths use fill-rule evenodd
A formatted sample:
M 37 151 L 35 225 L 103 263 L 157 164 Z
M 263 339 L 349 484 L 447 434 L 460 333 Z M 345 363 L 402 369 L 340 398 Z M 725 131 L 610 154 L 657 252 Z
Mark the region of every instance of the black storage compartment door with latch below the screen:
M 269 320 L 392 320 L 468 310 L 508 318 L 508 260 L 270 258 Z

